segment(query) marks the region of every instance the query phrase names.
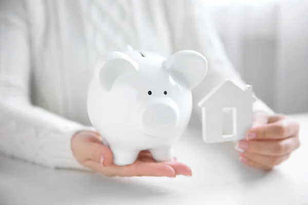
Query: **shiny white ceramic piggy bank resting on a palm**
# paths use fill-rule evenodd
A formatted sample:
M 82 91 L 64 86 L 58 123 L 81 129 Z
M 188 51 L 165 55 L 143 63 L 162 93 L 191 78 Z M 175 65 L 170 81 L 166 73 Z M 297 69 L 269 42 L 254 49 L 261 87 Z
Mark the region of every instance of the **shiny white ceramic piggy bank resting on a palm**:
M 192 110 L 191 89 L 204 79 L 207 61 L 195 51 L 163 56 L 128 47 L 104 56 L 94 69 L 87 110 L 118 166 L 148 150 L 157 161 L 174 160 L 172 146 Z

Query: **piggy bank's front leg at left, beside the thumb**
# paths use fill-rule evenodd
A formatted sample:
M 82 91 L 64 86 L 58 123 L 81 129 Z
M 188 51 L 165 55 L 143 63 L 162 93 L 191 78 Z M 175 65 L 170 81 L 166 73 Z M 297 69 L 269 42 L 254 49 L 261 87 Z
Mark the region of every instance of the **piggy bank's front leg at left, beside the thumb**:
M 118 166 L 130 165 L 136 161 L 139 151 L 125 150 L 125 148 L 112 148 L 113 163 Z

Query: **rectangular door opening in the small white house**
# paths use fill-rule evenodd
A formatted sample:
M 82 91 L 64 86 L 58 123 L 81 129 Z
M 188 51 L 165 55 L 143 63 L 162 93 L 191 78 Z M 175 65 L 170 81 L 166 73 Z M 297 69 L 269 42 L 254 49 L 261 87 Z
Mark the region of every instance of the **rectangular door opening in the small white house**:
M 224 138 L 234 137 L 237 134 L 236 108 L 223 108 L 222 110 L 222 136 Z

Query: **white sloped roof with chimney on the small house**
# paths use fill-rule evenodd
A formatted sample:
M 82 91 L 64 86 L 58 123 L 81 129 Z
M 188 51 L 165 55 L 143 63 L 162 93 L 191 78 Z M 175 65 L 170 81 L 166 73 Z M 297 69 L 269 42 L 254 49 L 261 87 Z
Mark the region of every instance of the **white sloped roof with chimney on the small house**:
M 246 90 L 241 89 L 237 85 L 233 83 L 231 80 L 226 80 L 222 84 L 218 85 L 216 88 L 214 88 L 212 91 L 210 91 L 199 103 L 198 106 L 202 107 L 208 101 L 211 97 L 213 97 L 218 91 L 228 91 L 227 93 L 235 93 L 235 92 L 246 92 L 248 89 L 252 89 L 251 86 L 246 86 Z M 252 93 L 252 92 L 251 92 Z M 252 93 L 253 94 L 253 93 Z M 255 98 L 252 96 L 253 102 L 255 101 Z

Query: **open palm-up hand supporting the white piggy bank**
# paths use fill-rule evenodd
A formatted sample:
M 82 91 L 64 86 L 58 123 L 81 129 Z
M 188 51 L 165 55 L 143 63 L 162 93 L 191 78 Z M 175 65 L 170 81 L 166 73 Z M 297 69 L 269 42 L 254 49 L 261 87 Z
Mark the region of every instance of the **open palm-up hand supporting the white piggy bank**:
M 106 176 L 191 176 L 191 170 L 177 161 L 157 162 L 148 151 L 140 152 L 138 159 L 127 166 L 115 166 L 112 151 L 101 142 L 98 133 L 82 131 L 71 140 L 75 158 L 85 167 Z

